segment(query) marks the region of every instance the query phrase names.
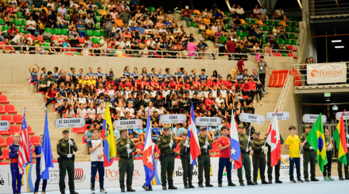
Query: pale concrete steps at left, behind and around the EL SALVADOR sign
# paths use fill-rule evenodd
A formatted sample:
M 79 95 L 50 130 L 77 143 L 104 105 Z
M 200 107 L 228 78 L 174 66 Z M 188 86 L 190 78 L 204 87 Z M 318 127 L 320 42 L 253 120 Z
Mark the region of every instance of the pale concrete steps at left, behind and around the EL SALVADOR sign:
M 1 85 L 1 92 L 6 95 L 10 104 L 13 104 L 18 111 L 17 114 L 23 115 L 26 108 L 27 124 L 31 126 L 35 136 L 39 136 L 44 131 L 45 123 L 45 95 L 36 93 L 33 85 L 18 83 L 17 85 Z M 59 118 L 59 114 L 54 115 L 54 104 L 47 106 L 48 128 L 50 132 L 51 148 L 53 159 L 57 160 L 57 141 L 62 138 L 62 129 L 54 126 L 54 121 Z M 70 132 L 70 137 L 75 140 L 78 151 L 74 153 L 76 161 L 90 161 L 87 145 L 82 143 L 83 134 Z

